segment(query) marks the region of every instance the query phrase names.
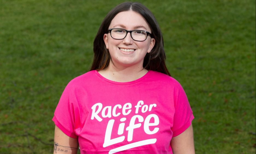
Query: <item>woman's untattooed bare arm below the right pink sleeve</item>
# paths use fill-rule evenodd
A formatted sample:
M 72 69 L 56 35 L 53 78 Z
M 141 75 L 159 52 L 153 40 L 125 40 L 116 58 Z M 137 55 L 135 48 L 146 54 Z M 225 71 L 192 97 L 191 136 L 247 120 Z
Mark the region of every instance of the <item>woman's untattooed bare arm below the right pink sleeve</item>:
M 195 153 L 192 124 L 183 133 L 172 138 L 171 147 L 173 154 Z

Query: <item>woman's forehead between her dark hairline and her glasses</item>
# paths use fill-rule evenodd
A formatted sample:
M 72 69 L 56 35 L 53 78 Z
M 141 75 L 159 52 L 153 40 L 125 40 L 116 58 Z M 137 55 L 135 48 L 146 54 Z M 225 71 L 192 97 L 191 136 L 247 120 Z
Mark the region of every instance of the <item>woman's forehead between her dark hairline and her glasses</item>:
M 146 20 L 135 11 L 119 12 L 111 21 L 109 28 L 125 28 L 133 30 L 134 28 L 144 29 L 150 31 Z

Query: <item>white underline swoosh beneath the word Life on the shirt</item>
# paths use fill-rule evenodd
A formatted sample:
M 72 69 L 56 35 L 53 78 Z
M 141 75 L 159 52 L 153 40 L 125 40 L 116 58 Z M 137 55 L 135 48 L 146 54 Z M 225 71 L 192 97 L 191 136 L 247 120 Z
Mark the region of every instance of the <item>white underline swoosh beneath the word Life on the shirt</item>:
M 156 141 L 157 141 L 156 138 L 152 138 L 152 139 L 148 139 L 148 140 L 134 142 L 134 143 L 131 143 L 131 144 L 127 144 L 127 145 L 112 149 L 108 152 L 108 154 L 112 154 L 112 153 L 116 153 L 116 152 L 119 152 L 119 151 L 131 149 L 131 148 L 134 148 L 134 147 L 144 146 L 144 145 L 147 145 L 147 144 L 154 144 Z

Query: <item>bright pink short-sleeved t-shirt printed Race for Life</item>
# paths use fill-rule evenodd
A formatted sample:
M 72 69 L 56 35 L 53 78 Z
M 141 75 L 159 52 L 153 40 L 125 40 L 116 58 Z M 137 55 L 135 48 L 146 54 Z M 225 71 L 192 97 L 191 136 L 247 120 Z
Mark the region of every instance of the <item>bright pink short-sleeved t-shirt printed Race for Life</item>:
M 78 137 L 81 153 L 172 153 L 170 141 L 194 116 L 181 85 L 149 71 L 131 82 L 114 82 L 96 70 L 66 86 L 53 121 Z

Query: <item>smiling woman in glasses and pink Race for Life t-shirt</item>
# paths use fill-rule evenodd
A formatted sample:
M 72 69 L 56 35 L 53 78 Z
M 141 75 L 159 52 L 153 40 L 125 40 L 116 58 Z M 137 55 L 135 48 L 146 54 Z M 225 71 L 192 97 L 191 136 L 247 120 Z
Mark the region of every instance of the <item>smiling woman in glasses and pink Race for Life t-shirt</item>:
M 54 113 L 54 153 L 195 153 L 193 114 L 165 65 L 152 13 L 125 2 L 103 20 L 90 72 L 69 82 Z

